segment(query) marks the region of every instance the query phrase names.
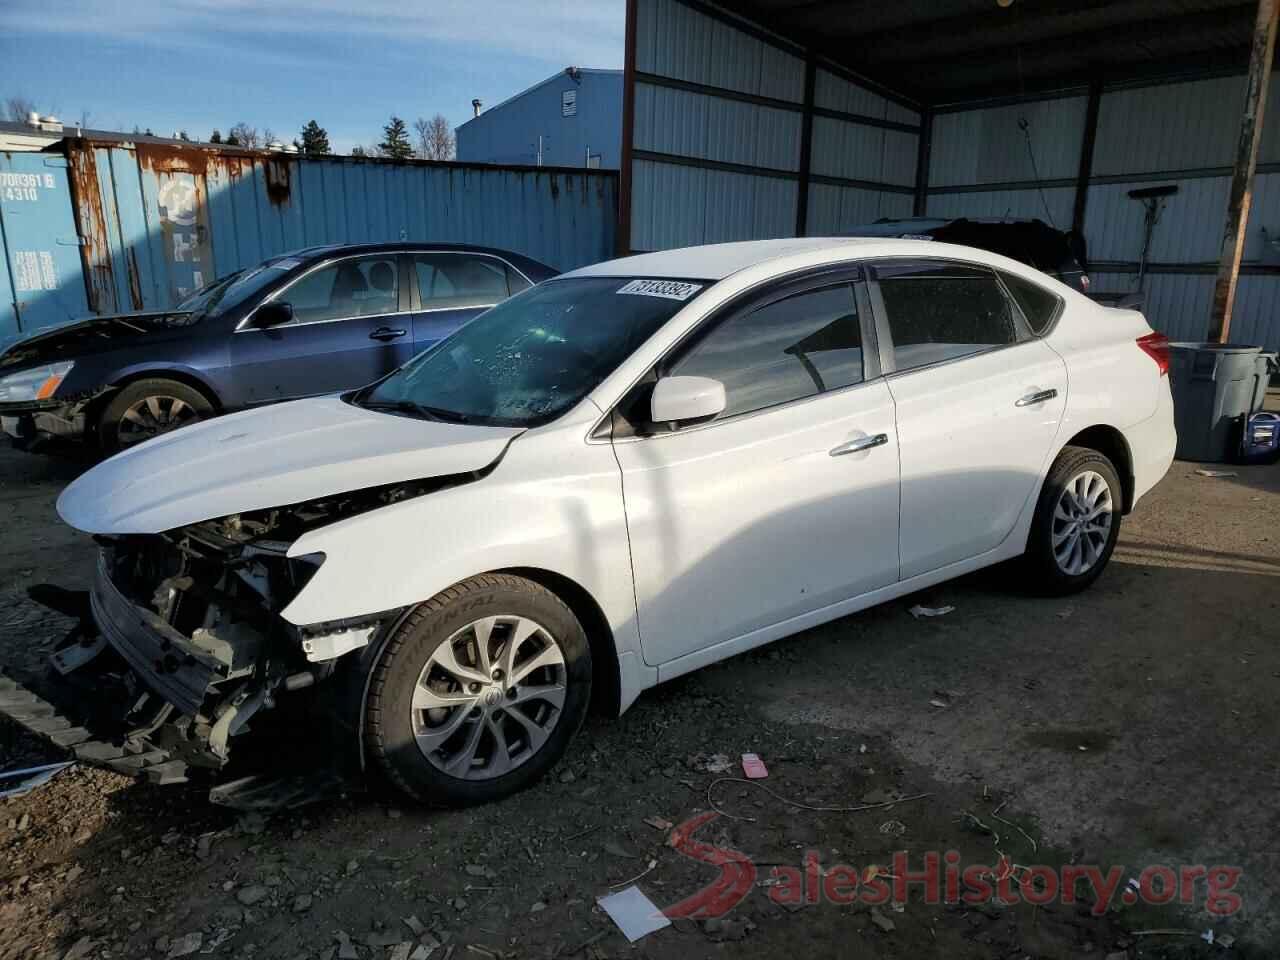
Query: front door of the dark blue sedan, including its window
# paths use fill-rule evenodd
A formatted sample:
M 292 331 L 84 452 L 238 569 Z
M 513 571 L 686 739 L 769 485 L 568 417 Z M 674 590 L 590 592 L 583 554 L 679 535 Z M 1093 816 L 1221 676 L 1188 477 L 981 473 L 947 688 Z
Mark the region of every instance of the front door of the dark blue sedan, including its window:
M 247 403 L 362 387 L 412 355 L 412 315 L 398 253 L 340 257 L 317 265 L 271 301 L 293 319 L 260 326 L 253 315 L 232 335 L 233 376 Z

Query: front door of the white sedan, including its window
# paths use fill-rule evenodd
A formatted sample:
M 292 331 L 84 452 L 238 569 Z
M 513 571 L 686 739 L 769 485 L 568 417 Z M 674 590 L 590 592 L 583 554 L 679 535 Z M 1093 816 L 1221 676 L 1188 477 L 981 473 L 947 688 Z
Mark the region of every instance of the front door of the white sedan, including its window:
M 851 274 L 777 289 L 654 371 L 719 380 L 721 415 L 645 428 L 652 384 L 623 401 L 613 447 L 649 663 L 716 659 L 896 581 L 893 404 L 864 349 L 868 312 Z

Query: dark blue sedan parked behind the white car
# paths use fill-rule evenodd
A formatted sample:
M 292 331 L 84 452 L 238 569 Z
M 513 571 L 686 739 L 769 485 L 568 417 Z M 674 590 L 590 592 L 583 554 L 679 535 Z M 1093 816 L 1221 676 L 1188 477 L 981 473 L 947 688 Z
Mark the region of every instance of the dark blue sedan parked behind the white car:
M 172 311 L 97 317 L 0 355 L 0 422 L 19 444 L 113 452 L 197 420 L 355 389 L 553 276 L 486 247 L 310 247 L 196 292 Z

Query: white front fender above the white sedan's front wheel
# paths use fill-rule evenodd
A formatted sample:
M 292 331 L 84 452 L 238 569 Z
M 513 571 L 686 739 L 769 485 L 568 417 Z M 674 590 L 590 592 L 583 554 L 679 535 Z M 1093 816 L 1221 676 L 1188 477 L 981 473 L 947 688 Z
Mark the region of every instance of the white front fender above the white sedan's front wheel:
M 477 573 L 532 567 L 595 599 L 620 657 L 639 650 L 617 461 L 609 444 L 566 434 L 526 434 L 481 480 L 305 534 L 289 556 L 325 559 L 282 616 L 297 626 L 361 617 Z

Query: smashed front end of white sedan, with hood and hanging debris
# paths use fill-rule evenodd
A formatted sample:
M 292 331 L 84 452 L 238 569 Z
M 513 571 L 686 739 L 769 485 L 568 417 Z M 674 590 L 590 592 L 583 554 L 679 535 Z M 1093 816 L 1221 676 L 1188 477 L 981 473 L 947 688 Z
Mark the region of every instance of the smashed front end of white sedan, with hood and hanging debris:
M 146 486 L 141 477 L 156 479 L 147 461 L 165 456 L 159 449 L 163 444 L 142 444 L 72 484 L 59 500 L 59 512 L 93 534 L 99 556 L 92 586 L 88 591 L 32 588 L 33 599 L 77 618 L 78 625 L 50 658 L 51 685 L 0 676 L 0 714 L 68 748 L 81 760 L 152 782 L 197 776 L 215 781 L 209 774 L 223 772 L 211 799 L 228 805 L 314 800 L 317 777 L 337 785 L 357 772 L 358 756 L 351 748 L 358 737 L 349 736 L 349 727 L 358 723 L 352 718 L 358 714 L 365 677 L 360 658 L 376 649 L 402 611 L 324 623 L 285 620 L 282 612 L 325 561 L 321 553 L 289 557 L 289 548 L 319 527 L 485 476 L 517 431 L 483 435 L 339 404 L 328 399 L 292 404 L 300 410 L 291 413 L 308 413 L 310 429 L 291 440 L 271 440 L 273 465 L 289 465 L 292 472 L 251 470 L 246 483 L 228 484 L 219 474 L 233 470 L 230 461 L 243 470 L 259 438 L 270 440 L 268 428 L 278 426 L 261 417 L 228 417 L 221 425 L 211 421 L 173 438 L 172 443 L 182 443 L 179 453 L 187 454 L 182 460 L 202 457 L 204 462 L 188 460 L 183 471 L 166 477 L 164 498 L 154 495 L 154 483 L 150 497 L 137 489 Z M 346 422 L 351 417 L 371 420 L 352 425 Z M 378 462 L 365 465 L 367 470 L 358 457 L 324 462 L 315 435 L 335 425 L 353 426 L 357 433 L 360 428 L 380 430 L 366 439 L 378 448 Z M 420 460 L 424 452 L 410 448 L 397 456 L 396 438 L 388 431 L 410 426 L 416 428 L 411 439 L 431 448 L 431 463 Z M 439 433 L 438 443 L 424 442 L 424 430 Z M 302 453 L 291 457 L 282 447 Z M 348 442 L 344 456 L 349 453 Z M 435 472 L 442 466 L 449 472 L 342 489 L 361 476 Z M 204 494 L 206 484 L 216 484 L 221 499 Z M 256 506 L 284 497 L 284 490 L 325 488 L 340 492 L 288 506 Z M 236 500 L 253 508 L 156 530 L 209 503 Z M 156 531 L 137 532 L 148 527 Z M 288 722 L 273 723 L 274 716 Z M 262 727 L 271 727 L 276 736 L 246 736 Z M 261 749 L 250 746 L 255 740 L 262 741 Z M 259 769 L 262 760 L 269 776 Z M 279 786 L 287 772 L 298 772 L 303 781 L 293 795 Z

